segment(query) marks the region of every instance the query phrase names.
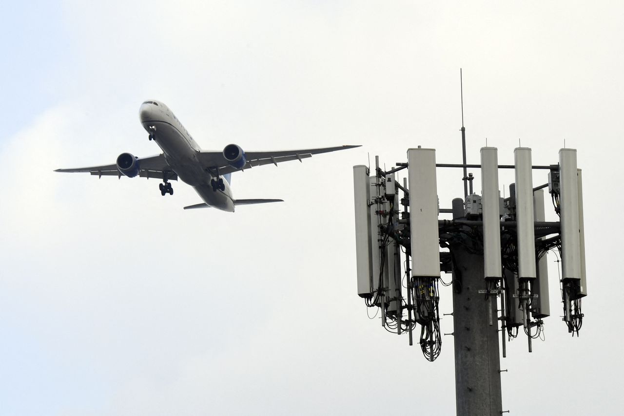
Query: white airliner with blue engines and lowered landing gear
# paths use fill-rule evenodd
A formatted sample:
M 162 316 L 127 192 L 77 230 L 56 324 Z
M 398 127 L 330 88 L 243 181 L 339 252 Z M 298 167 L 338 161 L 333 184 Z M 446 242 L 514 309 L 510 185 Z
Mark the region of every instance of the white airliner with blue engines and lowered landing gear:
M 193 137 L 184 128 L 173 112 L 160 101 L 149 100 L 139 109 L 141 124 L 147 130 L 149 140 L 154 140 L 162 150 L 160 155 L 135 157 L 131 153 L 121 153 L 117 162 L 110 165 L 57 169 L 54 172 L 89 172 L 91 175 L 134 178 L 158 178 L 160 195 L 173 195 L 171 180 L 182 180 L 193 186 L 203 202 L 185 206 L 193 208 L 217 208 L 234 212 L 235 206 L 269 202 L 283 202 L 276 199 L 235 200 L 230 188 L 233 172 L 243 171 L 256 166 L 275 165 L 289 160 L 312 157 L 318 153 L 334 152 L 353 145 L 324 147 L 302 150 L 277 150 L 273 152 L 244 152 L 235 144 L 223 148 L 223 152 L 202 150 Z M 224 180 L 225 179 L 225 180 Z

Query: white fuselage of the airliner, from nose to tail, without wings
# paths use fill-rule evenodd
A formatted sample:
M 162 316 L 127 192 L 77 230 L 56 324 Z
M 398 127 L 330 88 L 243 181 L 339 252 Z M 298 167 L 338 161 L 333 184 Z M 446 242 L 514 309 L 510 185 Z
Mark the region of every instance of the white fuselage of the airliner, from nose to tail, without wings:
M 213 175 L 202 168 L 198 160 L 201 148 L 167 105 L 155 100 L 146 101 L 140 107 L 139 117 L 145 130 L 162 149 L 165 160 L 178 178 L 193 186 L 207 205 L 234 212 L 230 184 L 223 180 L 225 189 L 213 190 L 210 181 L 217 180 L 216 172 Z

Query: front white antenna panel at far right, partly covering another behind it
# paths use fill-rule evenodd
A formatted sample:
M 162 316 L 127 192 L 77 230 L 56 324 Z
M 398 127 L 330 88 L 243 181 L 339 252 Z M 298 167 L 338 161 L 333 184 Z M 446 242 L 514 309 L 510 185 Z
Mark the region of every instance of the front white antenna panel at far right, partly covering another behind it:
M 581 278 L 577 151 L 559 150 L 562 278 Z

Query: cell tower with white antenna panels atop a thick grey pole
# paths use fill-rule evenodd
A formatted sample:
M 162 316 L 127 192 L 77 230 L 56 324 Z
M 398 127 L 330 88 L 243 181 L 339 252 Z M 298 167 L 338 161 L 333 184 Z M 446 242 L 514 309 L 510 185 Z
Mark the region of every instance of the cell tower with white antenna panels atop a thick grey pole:
M 374 172 L 353 167 L 358 295 L 381 309 L 382 326 L 406 333 L 409 345 L 419 328 L 422 353 L 433 361 L 442 347 L 438 286 L 445 284 L 441 273 L 451 273 L 457 415 L 494 416 L 504 413 L 498 332 L 503 357 L 505 342 L 522 331 L 532 351 L 550 316 L 548 251 L 561 261 L 563 322 L 572 336 L 581 328 L 582 175 L 570 148 L 559 151 L 558 163 L 536 166 L 530 148 L 514 150 L 514 165 L 499 165 L 497 148 L 484 147 L 480 165 L 468 165 L 463 124 L 462 109 L 461 164 L 436 163 L 435 149 L 418 147 L 388 171 L 378 157 Z M 452 200 L 452 208 L 439 208 L 439 168 L 463 169 L 464 198 Z M 482 195 L 473 192 L 467 168 L 480 169 Z M 395 174 L 404 169 L 400 185 Z M 515 171 L 507 198 L 500 196 L 501 169 Z M 534 172 L 547 183 L 534 188 Z M 545 221 L 546 188 L 559 221 Z

